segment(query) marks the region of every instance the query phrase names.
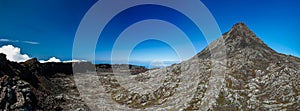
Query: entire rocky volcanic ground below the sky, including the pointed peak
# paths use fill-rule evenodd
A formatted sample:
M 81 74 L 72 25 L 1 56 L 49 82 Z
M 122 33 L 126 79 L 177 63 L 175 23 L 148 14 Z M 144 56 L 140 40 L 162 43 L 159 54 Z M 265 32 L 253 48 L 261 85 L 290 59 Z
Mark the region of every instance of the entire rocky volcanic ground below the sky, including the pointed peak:
M 160 69 L 76 64 L 73 72 L 74 63 L 15 63 L 0 54 L 0 109 L 300 110 L 300 59 L 272 50 L 244 23 Z

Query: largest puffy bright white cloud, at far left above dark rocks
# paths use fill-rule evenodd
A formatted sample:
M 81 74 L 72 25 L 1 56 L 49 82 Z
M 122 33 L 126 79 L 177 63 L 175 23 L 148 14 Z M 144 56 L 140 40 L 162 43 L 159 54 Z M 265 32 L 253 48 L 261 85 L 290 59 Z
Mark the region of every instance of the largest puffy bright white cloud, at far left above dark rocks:
M 0 41 L 3 41 L 3 39 L 0 39 Z M 10 61 L 24 62 L 30 59 L 27 54 L 21 54 L 20 48 L 14 47 L 12 45 L 4 45 L 0 47 L 0 53 L 4 53 L 6 55 L 6 58 Z

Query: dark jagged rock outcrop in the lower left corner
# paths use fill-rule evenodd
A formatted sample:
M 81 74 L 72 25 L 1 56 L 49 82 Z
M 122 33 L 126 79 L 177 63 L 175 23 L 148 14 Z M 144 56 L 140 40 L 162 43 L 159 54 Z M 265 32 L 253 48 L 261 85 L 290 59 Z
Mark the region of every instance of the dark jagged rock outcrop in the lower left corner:
M 35 98 L 30 91 L 30 84 L 20 75 L 21 68 L 10 62 L 6 55 L 0 54 L 0 109 L 2 110 L 34 110 Z

